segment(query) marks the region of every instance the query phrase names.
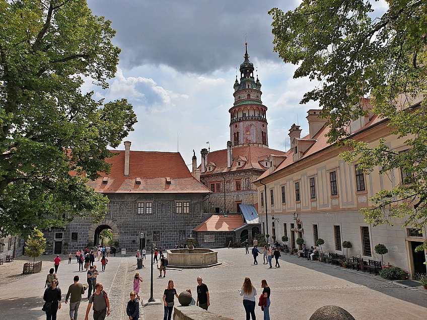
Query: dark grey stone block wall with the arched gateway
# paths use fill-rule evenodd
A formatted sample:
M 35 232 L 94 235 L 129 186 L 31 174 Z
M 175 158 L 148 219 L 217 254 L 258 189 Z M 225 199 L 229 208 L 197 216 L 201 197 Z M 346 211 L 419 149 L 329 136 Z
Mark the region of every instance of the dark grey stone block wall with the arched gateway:
M 62 242 L 62 252 L 74 252 L 94 243 L 94 231 L 99 225 L 108 225 L 113 230 L 113 242 L 119 242 L 119 248 L 136 251 L 139 248 L 139 233 L 146 233 L 146 247 L 151 245 L 153 231 L 160 232 L 160 241 L 156 246 L 173 248 L 177 243 L 185 243 L 179 239 L 185 230 L 188 237 L 192 230 L 202 223 L 208 215 L 203 215 L 203 194 L 107 194 L 110 199 L 108 212 L 99 223 L 91 218 L 76 217 L 63 229 L 44 230 L 46 240 L 51 243 L 46 250 L 54 252 L 55 241 Z M 152 202 L 151 214 L 138 214 L 139 201 Z M 175 202 L 189 202 L 189 213 L 176 213 Z M 78 232 L 77 241 L 72 241 L 72 233 Z M 62 238 L 55 238 L 55 233 L 62 233 Z M 135 240 L 135 242 L 132 242 Z M 65 245 L 66 244 L 66 245 Z M 117 249 L 119 249 L 117 248 Z

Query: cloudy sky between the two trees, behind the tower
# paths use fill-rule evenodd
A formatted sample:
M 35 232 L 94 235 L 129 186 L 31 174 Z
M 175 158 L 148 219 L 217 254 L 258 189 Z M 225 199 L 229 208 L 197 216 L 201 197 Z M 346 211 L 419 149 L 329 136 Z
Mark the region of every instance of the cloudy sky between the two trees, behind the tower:
M 243 62 L 245 34 L 249 60 L 258 67 L 261 100 L 267 109 L 269 147 L 287 150 L 289 129 L 297 123 L 308 134 L 305 117 L 311 102 L 301 105 L 304 93 L 317 83 L 294 79 L 297 66 L 285 64 L 273 52 L 271 8 L 294 10 L 299 0 L 88 0 L 94 15 L 112 21 L 113 43 L 121 48 L 120 62 L 110 87 L 102 90 L 87 81 L 94 99 L 126 98 L 138 123 L 124 140 L 131 150 L 179 152 L 197 164 L 200 149 L 227 147 L 236 67 Z M 373 3 L 379 11 L 384 0 Z M 179 141 L 179 143 L 178 143 Z M 118 147 L 123 150 L 123 143 Z M 190 166 L 191 168 L 191 166 Z

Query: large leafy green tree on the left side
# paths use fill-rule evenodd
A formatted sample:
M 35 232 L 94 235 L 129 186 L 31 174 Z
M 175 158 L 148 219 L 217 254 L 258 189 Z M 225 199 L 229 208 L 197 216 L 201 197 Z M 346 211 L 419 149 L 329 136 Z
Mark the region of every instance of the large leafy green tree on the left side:
M 114 77 L 111 21 L 85 0 L 0 0 L 0 14 L 0 236 L 99 221 L 108 199 L 86 183 L 136 122 L 126 99 L 81 91 Z

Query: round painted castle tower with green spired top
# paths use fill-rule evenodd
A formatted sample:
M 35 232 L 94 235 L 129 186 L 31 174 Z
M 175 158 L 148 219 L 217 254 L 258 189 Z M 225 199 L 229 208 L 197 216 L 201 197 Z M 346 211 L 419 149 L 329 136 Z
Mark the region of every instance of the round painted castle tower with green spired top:
M 253 63 L 249 61 L 245 42 L 245 61 L 240 65 L 240 83 L 234 83 L 234 105 L 230 108 L 230 140 L 233 146 L 256 145 L 268 148 L 267 107 L 261 101 L 261 83 L 254 78 Z

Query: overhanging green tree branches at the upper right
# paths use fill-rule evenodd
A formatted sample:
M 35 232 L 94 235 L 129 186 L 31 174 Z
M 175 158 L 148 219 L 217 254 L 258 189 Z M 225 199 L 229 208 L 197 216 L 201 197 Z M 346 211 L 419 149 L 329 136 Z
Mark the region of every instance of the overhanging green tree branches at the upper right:
M 308 76 L 319 83 L 301 103 L 318 102 L 330 126 L 329 143 L 347 143 L 345 161 L 357 160 L 366 174 L 374 168 L 388 176 L 400 169 L 408 174 L 402 184 L 370 199 L 373 205 L 362 209 L 365 221 L 392 225 L 403 218 L 404 226 L 422 229 L 427 223 L 427 100 L 416 108 L 411 101 L 427 90 L 427 2 L 389 1 L 387 12 L 372 19 L 373 2 L 304 0 L 294 11 L 273 8 L 274 50 L 284 62 L 298 64 L 294 78 Z M 371 104 L 361 99 L 368 95 Z M 351 121 L 366 115 L 387 118 L 391 134 L 409 150 L 396 152 L 384 139 L 376 145 L 351 140 Z

